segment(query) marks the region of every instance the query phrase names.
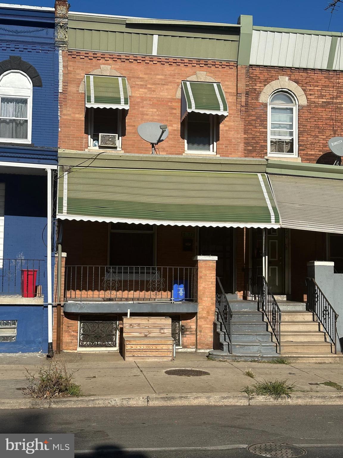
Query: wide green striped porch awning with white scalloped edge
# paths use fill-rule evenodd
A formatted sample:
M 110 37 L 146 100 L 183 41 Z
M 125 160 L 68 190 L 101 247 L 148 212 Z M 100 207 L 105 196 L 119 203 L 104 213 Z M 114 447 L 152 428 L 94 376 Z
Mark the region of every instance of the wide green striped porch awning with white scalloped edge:
M 60 219 L 280 227 L 265 174 L 151 169 L 59 171 Z

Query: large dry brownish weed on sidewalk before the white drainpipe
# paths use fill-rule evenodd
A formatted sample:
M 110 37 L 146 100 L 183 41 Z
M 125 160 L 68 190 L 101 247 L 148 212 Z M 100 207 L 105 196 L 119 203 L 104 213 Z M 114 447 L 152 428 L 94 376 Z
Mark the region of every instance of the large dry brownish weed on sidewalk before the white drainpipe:
M 80 396 L 81 387 L 73 381 L 75 371 L 68 371 L 64 361 L 56 356 L 49 365 L 42 365 L 38 373 L 26 369 L 27 391 L 24 394 L 38 399 Z

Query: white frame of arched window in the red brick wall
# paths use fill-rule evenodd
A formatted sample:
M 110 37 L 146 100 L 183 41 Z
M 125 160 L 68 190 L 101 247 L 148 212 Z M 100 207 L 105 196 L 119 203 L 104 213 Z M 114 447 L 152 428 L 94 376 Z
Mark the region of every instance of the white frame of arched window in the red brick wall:
M 270 151 L 270 142 L 271 140 L 290 140 L 292 137 L 274 137 L 270 135 L 271 131 L 271 109 L 273 108 L 285 108 L 285 107 L 290 107 L 290 105 L 276 105 L 276 104 L 271 104 L 270 101 L 273 98 L 273 96 L 277 93 L 286 93 L 289 95 L 292 100 L 294 101 L 293 105 L 293 153 L 272 153 Z M 267 116 L 267 125 L 268 125 L 268 149 L 267 149 L 267 155 L 270 156 L 271 158 L 297 158 L 298 157 L 298 99 L 295 97 L 295 95 L 290 92 L 287 89 L 278 89 L 277 91 L 274 91 L 270 97 L 268 98 L 268 116 Z

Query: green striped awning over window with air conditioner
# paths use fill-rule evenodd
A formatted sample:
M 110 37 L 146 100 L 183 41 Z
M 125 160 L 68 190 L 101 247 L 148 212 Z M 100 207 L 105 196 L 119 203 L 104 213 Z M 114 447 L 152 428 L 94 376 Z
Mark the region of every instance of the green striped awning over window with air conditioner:
M 87 108 L 129 109 L 129 93 L 124 76 L 86 75 Z

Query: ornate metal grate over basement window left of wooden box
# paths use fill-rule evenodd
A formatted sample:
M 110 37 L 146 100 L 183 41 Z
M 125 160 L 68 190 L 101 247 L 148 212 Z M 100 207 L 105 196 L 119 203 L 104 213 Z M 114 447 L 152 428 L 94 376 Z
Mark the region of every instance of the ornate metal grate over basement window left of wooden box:
M 80 321 L 79 347 L 117 346 L 118 321 Z

